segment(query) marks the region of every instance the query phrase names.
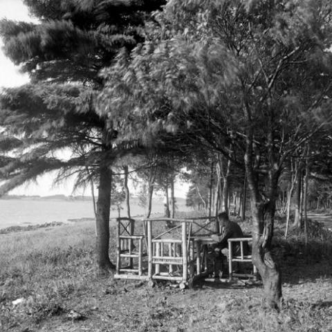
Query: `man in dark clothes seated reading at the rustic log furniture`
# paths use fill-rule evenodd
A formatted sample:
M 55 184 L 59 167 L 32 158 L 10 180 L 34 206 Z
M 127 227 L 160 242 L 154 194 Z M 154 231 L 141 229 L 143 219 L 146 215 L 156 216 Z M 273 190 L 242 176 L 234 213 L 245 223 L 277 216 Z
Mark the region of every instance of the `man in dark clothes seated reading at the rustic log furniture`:
M 222 262 L 224 259 L 226 259 L 226 257 L 222 254 L 221 250 L 224 248 L 228 248 L 228 239 L 244 237 L 240 226 L 237 223 L 234 223 L 234 221 L 230 221 L 226 212 L 219 213 L 218 220 L 220 225 L 222 226 L 222 232 L 221 234 L 211 235 L 212 239 L 217 242 L 213 246 L 214 255 L 216 258 L 216 268 L 214 272 L 215 274 L 217 273 L 216 270 L 220 270 L 220 266 L 221 270 L 223 270 Z M 234 256 L 241 255 L 241 246 L 239 242 L 232 243 L 232 253 Z M 243 255 L 249 255 L 249 248 L 247 242 L 243 243 Z

